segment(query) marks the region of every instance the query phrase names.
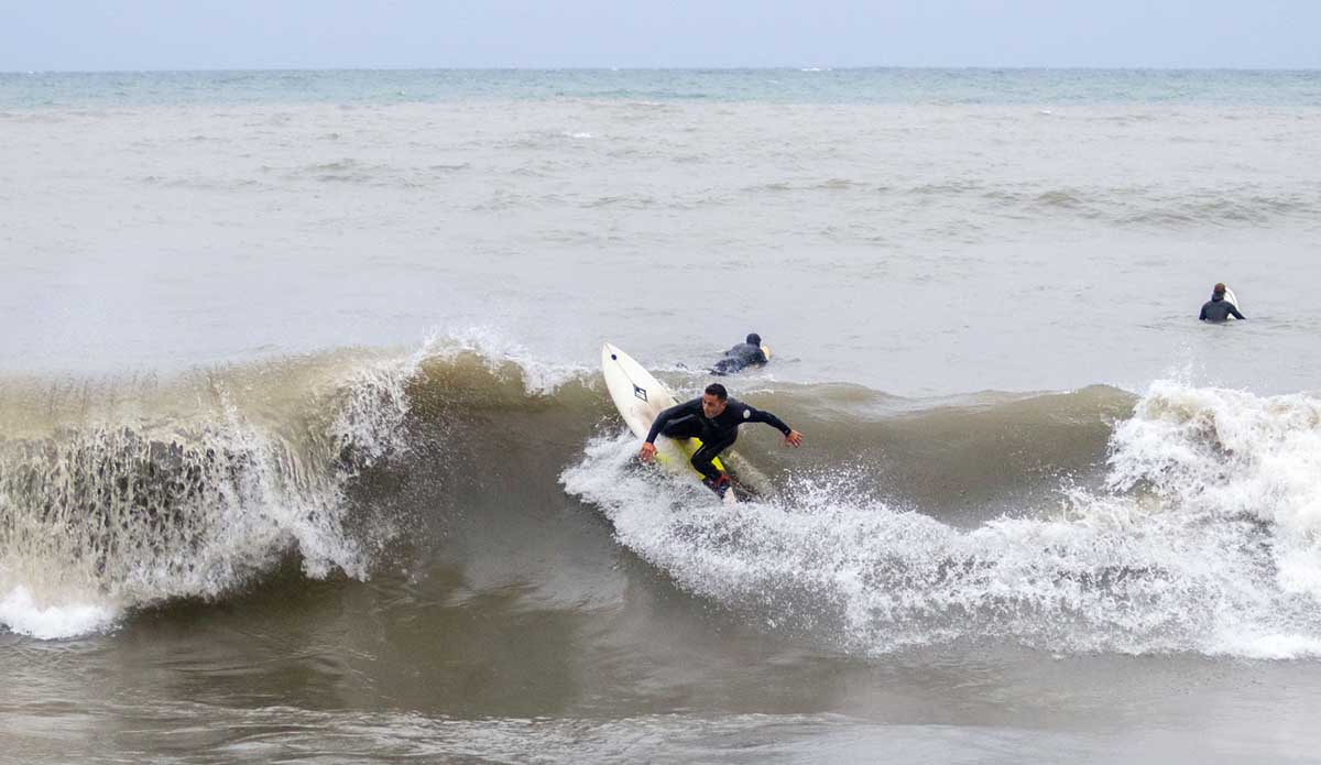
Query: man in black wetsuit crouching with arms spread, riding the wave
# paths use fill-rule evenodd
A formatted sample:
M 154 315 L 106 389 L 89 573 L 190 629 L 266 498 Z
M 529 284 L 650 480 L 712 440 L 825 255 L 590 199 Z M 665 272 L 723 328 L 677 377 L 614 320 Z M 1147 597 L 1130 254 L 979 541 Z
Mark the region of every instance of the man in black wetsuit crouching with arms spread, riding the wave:
M 781 433 L 785 433 L 785 443 L 790 447 L 798 447 L 803 443 L 803 435 L 786 425 L 775 415 L 732 399 L 725 391 L 725 386 L 711 383 L 700 399 L 675 404 L 657 415 L 657 421 L 651 423 L 647 443 L 642 444 L 638 457 L 643 462 L 655 457 L 657 436 L 701 439 L 701 448 L 692 455 L 692 466 L 704 476 L 703 484 L 724 497 L 725 490 L 729 489 L 729 476 L 716 469 L 711 461 L 733 445 L 734 439 L 738 437 L 738 425 L 744 423 L 766 423 L 779 429 Z

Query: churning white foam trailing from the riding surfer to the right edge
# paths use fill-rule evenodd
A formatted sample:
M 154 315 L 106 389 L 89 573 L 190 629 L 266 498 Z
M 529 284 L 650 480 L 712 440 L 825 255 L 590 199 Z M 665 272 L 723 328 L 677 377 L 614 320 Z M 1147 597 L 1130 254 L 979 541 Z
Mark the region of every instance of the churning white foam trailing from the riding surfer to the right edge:
M 1321 646 L 1318 423 L 1308 396 L 1156 383 L 1116 428 L 1107 490 L 1062 488 L 1055 517 L 972 530 L 860 499 L 840 473 L 727 509 L 635 466 L 627 435 L 589 443 L 561 482 L 684 589 L 847 650 L 1283 659 Z

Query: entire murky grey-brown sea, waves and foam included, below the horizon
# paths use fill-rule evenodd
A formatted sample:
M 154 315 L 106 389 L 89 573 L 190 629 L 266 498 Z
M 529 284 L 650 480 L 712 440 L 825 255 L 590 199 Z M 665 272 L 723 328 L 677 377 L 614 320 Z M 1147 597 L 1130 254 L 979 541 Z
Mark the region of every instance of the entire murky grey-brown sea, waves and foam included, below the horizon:
M 1309 71 L 3 74 L 5 756 L 1312 761 L 1318 132 Z M 806 444 L 729 509 L 597 359 L 748 332 Z

